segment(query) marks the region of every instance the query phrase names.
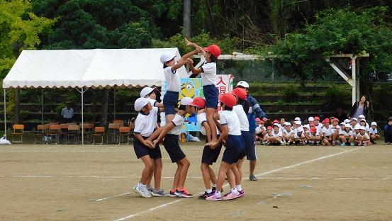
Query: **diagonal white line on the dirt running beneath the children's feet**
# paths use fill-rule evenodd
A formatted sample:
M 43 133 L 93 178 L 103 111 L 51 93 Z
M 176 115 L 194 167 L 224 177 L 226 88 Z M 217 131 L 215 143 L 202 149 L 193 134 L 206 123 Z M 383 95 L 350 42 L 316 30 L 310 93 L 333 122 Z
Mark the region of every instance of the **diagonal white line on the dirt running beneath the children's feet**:
M 318 160 L 320 160 L 320 159 L 327 159 L 327 158 L 329 158 L 329 157 L 335 157 L 335 156 L 337 156 L 337 155 L 345 154 L 345 153 L 347 153 L 347 152 L 352 152 L 352 151 L 357 150 L 357 149 L 360 149 L 360 148 L 362 148 L 362 147 L 357 147 L 357 148 L 350 149 L 350 150 L 347 150 L 347 151 L 344 151 L 344 152 L 339 152 L 339 153 L 337 153 L 337 154 L 330 154 L 330 155 L 327 155 L 327 156 L 324 156 L 324 157 L 318 157 L 318 158 L 316 158 L 316 159 L 311 159 L 311 160 L 308 160 L 308 161 L 306 161 L 306 162 L 302 162 L 302 163 L 299 163 L 299 164 L 293 164 L 293 165 L 291 165 L 291 166 L 284 166 L 284 167 L 281 167 L 281 168 L 279 168 L 279 169 L 274 169 L 274 170 L 271 170 L 271 171 L 264 172 L 264 173 L 262 173 L 262 174 L 257 174 L 256 176 L 263 176 L 263 175 L 265 175 L 265 174 L 271 174 L 271 173 L 274 173 L 274 172 L 276 172 L 276 171 L 281 171 L 281 170 L 284 170 L 284 169 L 291 169 L 291 168 L 296 167 L 296 166 L 301 166 L 302 164 L 308 164 L 308 163 L 311 163 L 311 162 L 318 161 Z M 226 185 L 224 185 L 224 186 L 228 186 L 228 184 L 226 184 Z M 200 194 L 200 193 L 199 193 L 199 194 Z M 183 198 L 183 199 L 181 199 L 181 200 L 184 200 L 184 199 L 186 199 L 186 198 Z M 141 215 L 141 214 L 143 214 L 143 213 L 145 213 L 145 212 L 150 212 L 150 211 L 152 211 L 152 210 L 156 210 L 157 208 L 163 208 L 163 207 L 165 207 L 165 206 L 167 206 L 167 205 L 172 205 L 172 204 L 174 204 L 174 203 L 178 203 L 178 202 L 180 202 L 181 200 L 175 200 L 175 201 L 173 201 L 173 202 L 171 202 L 171 203 L 165 203 L 165 204 L 162 204 L 162 205 L 158 205 L 158 206 L 155 207 L 155 208 L 150 208 L 150 209 L 148 209 L 148 210 L 144 210 L 144 211 L 142 211 L 142 212 L 135 213 L 135 214 L 133 214 L 133 215 L 128 215 L 128 216 L 126 216 L 126 217 L 120 218 L 120 219 L 115 220 L 115 221 L 128 220 L 129 218 L 132 218 L 132 217 Z

